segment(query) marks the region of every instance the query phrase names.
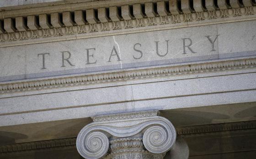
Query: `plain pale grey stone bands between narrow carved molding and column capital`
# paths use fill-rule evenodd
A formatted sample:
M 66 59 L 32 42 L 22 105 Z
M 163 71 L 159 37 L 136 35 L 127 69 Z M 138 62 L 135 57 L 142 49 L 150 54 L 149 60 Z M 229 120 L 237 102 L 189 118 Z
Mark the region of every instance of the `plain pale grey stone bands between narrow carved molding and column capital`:
M 237 69 L 234 71 L 225 69 L 226 71 L 200 73 L 201 68 L 197 67 L 197 73 L 154 76 L 157 78 L 145 72 L 144 78 L 120 82 L 118 79 L 115 82 L 106 80 L 105 83 L 98 84 L 91 77 L 94 84 L 76 86 L 70 81 L 70 85 L 66 87 L 54 88 L 49 82 L 51 89 L 3 93 L 0 98 L 1 126 L 154 108 L 165 110 L 213 105 L 211 109 L 215 110 L 216 105 L 255 102 L 256 69 L 240 69 L 239 65 L 240 62 L 237 62 Z M 216 64 L 214 67 L 217 70 L 220 66 Z M 59 82 L 62 80 L 64 79 Z M 42 81 L 37 81 L 37 84 L 42 84 Z M 48 102 L 39 102 L 43 100 Z M 231 109 L 233 107 L 225 110 L 230 112 Z M 220 108 L 218 111 L 222 113 L 224 110 Z M 254 114 L 249 118 L 255 119 L 253 116 Z M 230 119 L 231 122 L 234 120 Z

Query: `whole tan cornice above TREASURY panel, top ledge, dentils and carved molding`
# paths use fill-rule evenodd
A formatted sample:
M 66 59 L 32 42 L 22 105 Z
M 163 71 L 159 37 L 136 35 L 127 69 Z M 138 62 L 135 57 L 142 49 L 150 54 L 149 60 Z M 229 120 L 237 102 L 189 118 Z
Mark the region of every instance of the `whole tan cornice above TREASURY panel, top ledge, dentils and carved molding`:
M 101 0 L 7 8 L 0 12 L 0 47 L 256 19 L 254 0 L 216 2 Z

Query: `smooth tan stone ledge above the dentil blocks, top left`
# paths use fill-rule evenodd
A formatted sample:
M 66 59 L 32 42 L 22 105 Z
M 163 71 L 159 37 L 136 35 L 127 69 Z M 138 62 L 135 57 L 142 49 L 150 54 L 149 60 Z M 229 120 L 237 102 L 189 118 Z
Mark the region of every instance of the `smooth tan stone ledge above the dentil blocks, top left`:
M 51 2 L 34 2 L 33 4 L 30 5 L 0 7 L 0 20 L 4 18 L 13 18 L 17 16 L 49 14 L 74 10 L 97 9 L 110 6 L 131 5 L 157 1 L 163 0 L 52 0 Z M 38 10 L 40 10 L 40 13 L 38 13 Z

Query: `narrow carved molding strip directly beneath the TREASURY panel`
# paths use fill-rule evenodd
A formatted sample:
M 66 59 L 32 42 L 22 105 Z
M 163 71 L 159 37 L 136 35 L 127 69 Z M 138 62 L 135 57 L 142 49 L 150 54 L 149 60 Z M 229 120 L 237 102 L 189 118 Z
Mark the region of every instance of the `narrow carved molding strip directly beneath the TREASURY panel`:
M 25 82 L 5 82 L 0 84 L 0 93 L 79 86 L 139 78 L 177 76 L 203 72 L 218 72 L 254 67 L 256 67 L 256 58 L 250 58 L 222 62 L 208 62 L 191 65 L 139 69 L 133 71 L 109 72 L 84 76 L 59 77 Z

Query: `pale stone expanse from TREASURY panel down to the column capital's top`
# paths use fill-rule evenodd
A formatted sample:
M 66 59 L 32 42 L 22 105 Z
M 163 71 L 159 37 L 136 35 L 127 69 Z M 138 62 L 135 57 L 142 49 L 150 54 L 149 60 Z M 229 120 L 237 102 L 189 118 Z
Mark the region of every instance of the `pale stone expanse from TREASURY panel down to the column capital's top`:
M 41 78 L 40 81 L 33 82 L 27 80 L 1 87 L 3 92 L 0 98 L 0 120 L 3 121 L 1 124 L 84 118 L 99 112 L 127 111 L 135 107 L 136 109 L 154 108 L 156 103 L 158 108 L 173 109 L 253 102 L 256 97 L 253 90 L 256 86 L 255 73 L 253 73 L 255 69 L 246 68 L 255 67 L 255 62 L 248 59 L 255 57 L 253 26 L 255 21 L 247 21 L 1 48 L 2 81 L 35 77 L 47 79 Z M 51 35 L 55 33 L 54 29 L 48 31 Z M 216 35 L 219 36 L 213 47 L 212 43 Z M 209 36 L 212 43 L 206 36 Z M 17 37 L 19 34 L 16 32 Z M 190 40 L 184 38 L 192 40 L 190 47 L 196 53 L 192 53 L 187 47 Z M 183 54 L 183 39 L 186 44 L 186 54 Z M 169 40 L 169 52 L 165 55 L 167 40 Z M 143 52 L 141 59 L 134 59 L 140 56 L 140 52 L 133 49 L 136 43 L 141 44 L 135 46 L 135 49 Z M 156 44 L 159 46 L 159 55 L 156 53 Z M 86 64 L 86 49 L 89 51 L 89 62 L 93 63 L 97 60 L 96 64 Z M 69 53 L 64 51 L 70 52 L 70 58 Z M 120 61 L 117 58 L 119 52 Z M 43 55 L 45 69 L 42 69 Z M 109 58 L 111 62 L 108 62 Z M 247 59 L 235 61 L 234 58 Z M 113 64 L 117 64 L 116 68 L 107 69 Z M 168 69 L 157 67 L 165 65 L 168 65 Z M 115 69 L 121 70 L 121 66 L 123 72 L 112 72 Z M 147 69 L 125 72 L 130 68 L 142 67 Z M 80 72 L 77 72 L 77 68 L 80 68 Z M 96 71 L 104 74 L 95 75 L 95 68 L 98 69 Z M 74 76 L 81 72 L 94 75 L 55 77 L 55 75 L 70 74 Z M 242 74 L 244 72 L 246 73 Z M 229 76 L 223 76 L 227 74 Z M 16 92 L 4 92 L 13 90 Z M 35 100 L 48 102 L 35 103 Z

